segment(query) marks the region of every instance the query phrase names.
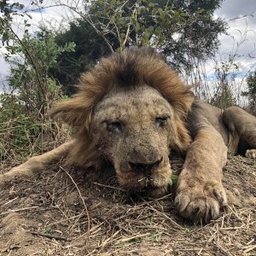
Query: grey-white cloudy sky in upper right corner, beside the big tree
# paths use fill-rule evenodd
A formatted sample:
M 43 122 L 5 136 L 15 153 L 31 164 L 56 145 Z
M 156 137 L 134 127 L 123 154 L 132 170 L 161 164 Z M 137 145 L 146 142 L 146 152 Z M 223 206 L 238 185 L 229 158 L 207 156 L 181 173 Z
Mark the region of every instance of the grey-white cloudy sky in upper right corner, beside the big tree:
M 235 55 L 241 73 L 256 68 L 256 11 L 254 0 L 225 0 L 215 15 L 228 21 L 228 35 L 219 36 L 218 60 L 228 61 Z M 255 14 L 256 15 L 256 14 Z

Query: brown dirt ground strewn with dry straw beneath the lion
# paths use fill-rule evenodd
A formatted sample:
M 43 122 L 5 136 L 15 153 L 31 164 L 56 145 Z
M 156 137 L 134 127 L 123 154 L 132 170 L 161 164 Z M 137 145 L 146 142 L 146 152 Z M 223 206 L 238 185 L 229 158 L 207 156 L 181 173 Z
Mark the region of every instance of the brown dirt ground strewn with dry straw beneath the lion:
M 112 172 L 58 163 L 0 189 L 0 255 L 256 255 L 256 160 L 230 157 L 224 186 L 230 206 L 193 224 L 178 216 L 172 190 L 159 200 L 127 195 Z

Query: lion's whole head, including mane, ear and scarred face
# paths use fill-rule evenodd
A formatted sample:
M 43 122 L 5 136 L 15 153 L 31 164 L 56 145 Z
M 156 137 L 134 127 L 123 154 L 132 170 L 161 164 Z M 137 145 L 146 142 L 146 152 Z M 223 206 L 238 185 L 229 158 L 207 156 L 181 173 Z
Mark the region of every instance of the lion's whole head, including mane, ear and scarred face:
M 103 58 L 82 75 L 79 92 L 54 114 L 74 128 L 69 159 L 104 169 L 107 159 L 125 189 L 166 190 L 170 150 L 189 147 L 183 123 L 194 100 L 161 56 L 149 48 Z

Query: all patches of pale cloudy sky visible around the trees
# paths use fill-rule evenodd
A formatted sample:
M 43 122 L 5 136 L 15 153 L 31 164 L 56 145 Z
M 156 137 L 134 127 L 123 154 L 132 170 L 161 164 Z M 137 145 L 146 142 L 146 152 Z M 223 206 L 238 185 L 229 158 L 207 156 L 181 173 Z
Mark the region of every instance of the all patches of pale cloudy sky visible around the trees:
M 30 3 L 30 0 L 20 0 L 20 3 Z M 46 4 L 50 4 L 47 0 Z M 45 3 L 45 2 L 44 2 Z M 230 55 L 236 54 L 236 61 L 240 67 L 241 77 L 246 76 L 247 72 L 256 68 L 256 1 L 255 0 L 224 0 L 222 6 L 216 10 L 216 17 L 226 20 L 230 26 L 229 35 L 219 36 L 220 47 L 218 50 L 218 59 L 226 61 Z M 63 16 L 65 19 L 63 20 Z M 32 32 L 35 31 L 39 23 L 63 24 L 68 23 L 71 12 L 65 8 L 49 8 L 44 12 L 32 13 Z M 15 29 L 18 34 L 22 31 L 20 20 L 15 20 Z M 3 52 L 0 49 L 0 92 L 3 90 L 3 82 L 9 73 L 9 65 L 3 61 Z M 207 61 L 206 70 L 208 74 L 213 73 L 214 63 Z

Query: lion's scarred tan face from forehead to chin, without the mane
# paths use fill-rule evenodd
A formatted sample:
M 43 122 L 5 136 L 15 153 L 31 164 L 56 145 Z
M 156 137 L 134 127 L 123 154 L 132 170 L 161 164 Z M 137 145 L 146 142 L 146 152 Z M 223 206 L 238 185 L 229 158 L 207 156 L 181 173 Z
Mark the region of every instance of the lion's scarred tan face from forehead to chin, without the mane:
M 166 99 L 146 85 L 108 94 L 97 104 L 91 123 L 97 149 L 113 163 L 125 189 L 166 188 L 170 182 L 173 114 Z

